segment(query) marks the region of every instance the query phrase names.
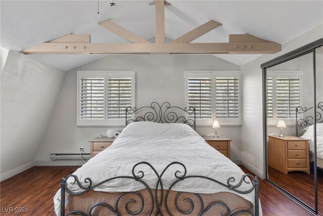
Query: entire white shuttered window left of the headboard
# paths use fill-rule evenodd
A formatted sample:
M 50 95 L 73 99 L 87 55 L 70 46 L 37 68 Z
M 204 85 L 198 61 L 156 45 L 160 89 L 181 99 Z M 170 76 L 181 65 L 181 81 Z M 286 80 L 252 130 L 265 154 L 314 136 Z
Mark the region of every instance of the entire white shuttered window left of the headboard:
M 124 125 L 134 105 L 134 72 L 78 71 L 78 125 Z M 128 115 L 131 117 L 131 115 Z

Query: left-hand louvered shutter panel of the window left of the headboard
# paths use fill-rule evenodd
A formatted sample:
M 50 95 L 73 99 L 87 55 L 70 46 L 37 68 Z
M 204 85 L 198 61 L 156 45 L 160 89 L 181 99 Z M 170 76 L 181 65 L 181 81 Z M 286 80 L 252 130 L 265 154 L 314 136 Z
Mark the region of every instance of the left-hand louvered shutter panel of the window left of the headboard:
M 104 78 L 80 78 L 79 111 L 81 119 L 104 118 Z

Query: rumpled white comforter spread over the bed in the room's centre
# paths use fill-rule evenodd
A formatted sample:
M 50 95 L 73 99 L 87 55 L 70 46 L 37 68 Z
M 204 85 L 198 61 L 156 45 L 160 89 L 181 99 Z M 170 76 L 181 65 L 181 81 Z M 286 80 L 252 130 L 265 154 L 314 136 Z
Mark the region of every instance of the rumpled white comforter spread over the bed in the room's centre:
M 187 168 L 187 175 L 207 176 L 226 184 L 229 177 L 239 182 L 244 172 L 223 154 L 209 146 L 191 127 L 180 123 L 134 122 L 129 124 L 107 149 L 87 161 L 78 168 L 74 175 L 81 183 L 89 177 L 93 185 L 117 176 L 132 176 L 134 164 L 147 161 L 160 174 L 171 162 L 182 162 Z M 147 166 L 141 165 L 135 173 L 142 170 L 143 180 L 151 188 L 155 188 L 157 177 Z M 169 167 L 162 181 L 164 189 L 168 189 L 174 180 L 176 170 L 183 170 L 179 165 Z M 72 181 L 72 179 L 70 179 Z M 249 181 L 249 179 L 247 178 Z M 77 185 L 68 183 L 68 187 L 77 190 Z M 242 184 L 242 191 L 248 190 L 251 184 Z M 95 188 L 95 191 L 125 192 L 137 191 L 144 186 L 136 181 L 123 179 L 113 181 Z M 219 184 L 203 179 L 186 179 L 172 188 L 175 191 L 196 193 L 232 192 Z M 238 194 L 254 204 L 254 192 Z M 54 197 L 55 212 L 60 213 L 60 191 Z M 67 197 L 66 197 L 67 199 Z M 260 208 L 261 211 L 261 208 Z M 261 212 L 260 212 L 261 213 Z

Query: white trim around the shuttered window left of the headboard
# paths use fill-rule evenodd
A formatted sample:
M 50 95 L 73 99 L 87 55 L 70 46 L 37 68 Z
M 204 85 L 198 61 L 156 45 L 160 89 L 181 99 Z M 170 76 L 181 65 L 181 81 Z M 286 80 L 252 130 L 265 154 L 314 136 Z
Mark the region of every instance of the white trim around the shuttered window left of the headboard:
M 132 87 L 131 87 L 131 107 L 135 107 L 135 71 L 77 71 L 77 91 L 76 91 L 76 125 L 77 126 L 125 126 L 125 119 L 108 119 L 107 118 L 107 79 L 110 74 L 122 74 L 120 77 L 126 76 L 126 73 L 132 74 Z M 103 77 L 104 78 L 104 117 L 103 119 L 81 119 L 80 118 L 80 78 L 81 77 Z

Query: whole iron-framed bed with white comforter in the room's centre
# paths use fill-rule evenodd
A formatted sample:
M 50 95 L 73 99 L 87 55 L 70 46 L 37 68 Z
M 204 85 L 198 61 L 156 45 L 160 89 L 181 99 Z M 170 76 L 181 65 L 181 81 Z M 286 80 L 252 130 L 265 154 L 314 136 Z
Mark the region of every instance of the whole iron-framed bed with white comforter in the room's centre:
M 114 143 L 61 180 L 57 215 L 262 214 L 257 177 L 194 131 L 193 107 L 126 111 L 130 119 Z

